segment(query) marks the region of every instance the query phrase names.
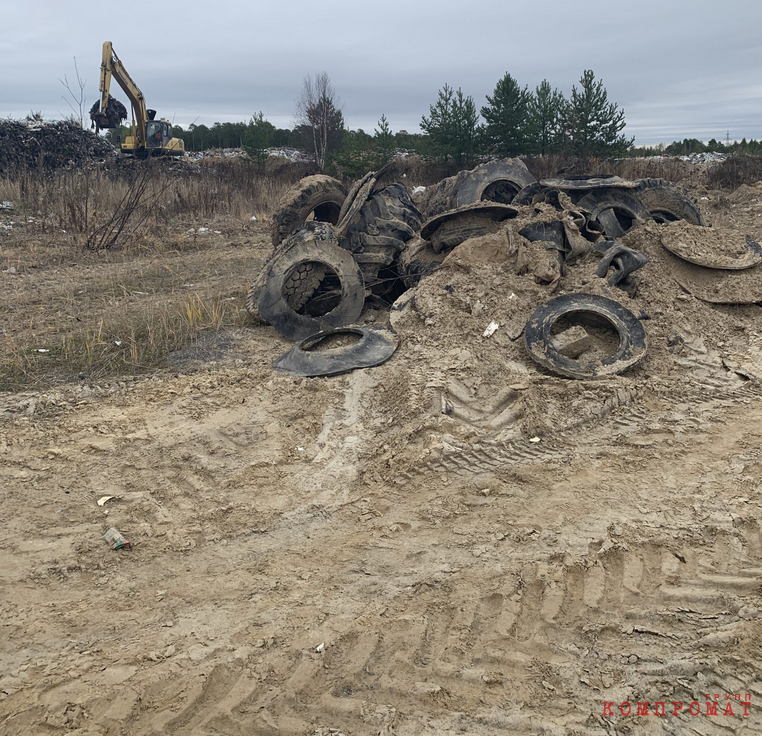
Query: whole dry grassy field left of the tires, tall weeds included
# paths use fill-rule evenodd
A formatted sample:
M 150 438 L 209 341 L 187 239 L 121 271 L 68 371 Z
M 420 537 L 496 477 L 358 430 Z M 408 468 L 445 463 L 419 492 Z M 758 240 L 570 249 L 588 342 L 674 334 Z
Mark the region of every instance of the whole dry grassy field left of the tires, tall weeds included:
M 244 324 L 267 220 L 298 176 L 229 161 L 179 167 L 123 162 L 0 180 L 0 198 L 17 205 L 0 213 L 0 390 L 152 370 Z M 137 227 L 88 252 L 136 181 L 150 194 Z

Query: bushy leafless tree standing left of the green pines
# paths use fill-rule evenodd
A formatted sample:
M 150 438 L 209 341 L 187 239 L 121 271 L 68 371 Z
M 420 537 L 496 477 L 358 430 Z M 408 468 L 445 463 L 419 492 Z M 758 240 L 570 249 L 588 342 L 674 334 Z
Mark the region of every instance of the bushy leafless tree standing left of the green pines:
M 296 125 L 307 131 L 314 150 L 315 163 L 322 171 L 326 153 L 338 148 L 344 130 L 340 101 L 326 72 L 304 78 L 296 100 Z

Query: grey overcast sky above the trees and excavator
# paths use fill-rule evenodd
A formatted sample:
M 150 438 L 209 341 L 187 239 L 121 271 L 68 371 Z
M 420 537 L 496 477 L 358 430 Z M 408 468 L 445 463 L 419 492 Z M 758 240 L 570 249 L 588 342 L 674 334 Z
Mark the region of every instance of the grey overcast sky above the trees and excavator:
M 417 131 L 445 83 L 481 107 L 505 72 L 568 95 L 592 69 L 636 144 L 762 137 L 756 0 L 0 0 L 0 19 L 0 117 L 68 114 L 74 57 L 89 107 L 109 40 L 183 127 L 260 110 L 291 127 L 304 76 L 326 71 L 348 127 L 372 133 L 384 113 Z

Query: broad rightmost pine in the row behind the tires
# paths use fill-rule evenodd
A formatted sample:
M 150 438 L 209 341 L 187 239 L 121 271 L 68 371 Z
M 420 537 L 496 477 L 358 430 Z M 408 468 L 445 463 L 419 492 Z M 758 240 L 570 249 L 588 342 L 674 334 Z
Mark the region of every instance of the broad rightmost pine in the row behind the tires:
M 621 134 L 624 110 L 608 101 L 603 81 L 596 81 L 591 69 L 584 71 L 579 83 L 579 89 L 572 87 L 564 115 L 569 148 L 583 157 L 626 153 L 635 139 Z

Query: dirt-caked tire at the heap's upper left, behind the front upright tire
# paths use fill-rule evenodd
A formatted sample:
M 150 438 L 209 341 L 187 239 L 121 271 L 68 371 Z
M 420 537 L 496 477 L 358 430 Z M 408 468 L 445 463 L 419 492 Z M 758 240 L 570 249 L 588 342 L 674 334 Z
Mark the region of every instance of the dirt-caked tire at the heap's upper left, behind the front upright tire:
M 301 179 L 283 195 L 273 215 L 273 247 L 298 230 L 310 215 L 317 222 L 336 225 L 346 196 L 346 187 L 338 179 L 324 174 Z

